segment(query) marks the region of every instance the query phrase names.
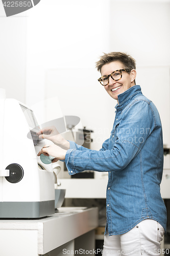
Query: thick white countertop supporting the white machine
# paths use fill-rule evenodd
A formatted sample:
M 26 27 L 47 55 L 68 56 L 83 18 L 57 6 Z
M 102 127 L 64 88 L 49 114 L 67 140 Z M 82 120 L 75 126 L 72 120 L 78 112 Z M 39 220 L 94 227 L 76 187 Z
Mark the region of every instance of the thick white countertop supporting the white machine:
M 61 207 L 55 215 L 42 219 L 0 220 L 0 255 L 8 251 L 8 255 L 20 256 L 25 248 L 25 255 L 34 256 L 37 251 L 43 255 L 94 230 L 98 227 L 97 217 L 96 207 Z

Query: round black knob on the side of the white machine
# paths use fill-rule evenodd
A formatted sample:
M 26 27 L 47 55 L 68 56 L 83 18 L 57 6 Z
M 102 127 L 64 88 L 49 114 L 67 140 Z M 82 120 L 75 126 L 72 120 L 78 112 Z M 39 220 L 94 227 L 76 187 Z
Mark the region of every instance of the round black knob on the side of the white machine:
M 6 169 L 10 171 L 10 176 L 5 177 L 8 182 L 17 183 L 23 178 L 23 169 L 19 164 L 9 164 Z

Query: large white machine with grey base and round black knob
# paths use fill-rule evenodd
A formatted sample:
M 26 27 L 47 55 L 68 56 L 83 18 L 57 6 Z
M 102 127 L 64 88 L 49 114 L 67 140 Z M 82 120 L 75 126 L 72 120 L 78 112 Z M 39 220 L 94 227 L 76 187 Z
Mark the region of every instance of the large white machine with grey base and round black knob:
M 41 218 L 55 213 L 52 164 L 38 152 L 49 141 L 39 140 L 32 110 L 0 89 L 0 218 Z M 30 135 L 30 136 L 29 136 Z

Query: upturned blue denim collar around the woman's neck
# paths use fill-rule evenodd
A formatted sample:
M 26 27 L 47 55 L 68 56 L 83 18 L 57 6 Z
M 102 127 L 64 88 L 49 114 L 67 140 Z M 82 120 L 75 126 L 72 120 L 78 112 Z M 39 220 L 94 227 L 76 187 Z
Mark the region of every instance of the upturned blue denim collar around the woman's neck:
M 116 104 L 115 109 L 121 108 L 121 107 L 125 106 L 126 105 L 126 101 L 128 99 L 132 98 L 132 96 L 136 95 L 137 93 L 141 93 L 140 86 L 132 86 L 131 88 L 129 88 L 124 93 L 119 94 L 117 96 L 119 104 Z

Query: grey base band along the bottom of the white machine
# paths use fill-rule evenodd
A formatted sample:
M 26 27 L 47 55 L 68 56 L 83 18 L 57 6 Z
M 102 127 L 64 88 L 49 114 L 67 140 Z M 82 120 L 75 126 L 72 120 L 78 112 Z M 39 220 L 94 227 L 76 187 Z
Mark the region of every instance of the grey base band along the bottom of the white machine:
M 55 200 L 42 202 L 0 202 L 0 218 L 42 218 L 55 214 Z

